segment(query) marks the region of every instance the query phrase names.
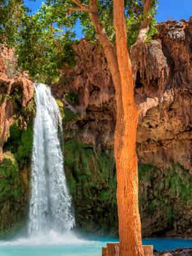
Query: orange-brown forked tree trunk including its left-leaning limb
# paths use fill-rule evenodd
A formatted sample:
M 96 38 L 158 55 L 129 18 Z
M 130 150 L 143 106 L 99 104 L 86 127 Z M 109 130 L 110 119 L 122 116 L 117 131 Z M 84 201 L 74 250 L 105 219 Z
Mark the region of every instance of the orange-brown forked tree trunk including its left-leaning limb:
M 119 255 L 144 256 L 138 209 L 138 159 L 136 156 L 136 131 L 139 111 L 134 102 L 134 83 L 131 60 L 127 49 L 124 0 L 113 0 L 116 51 L 100 21 L 97 0 L 90 0 L 89 6 L 83 7 L 79 1 L 72 1 L 80 8 L 76 8 L 76 10 L 86 8 L 89 13 L 96 35 L 108 60 L 115 85 L 116 128 L 114 151 L 117 172 Z

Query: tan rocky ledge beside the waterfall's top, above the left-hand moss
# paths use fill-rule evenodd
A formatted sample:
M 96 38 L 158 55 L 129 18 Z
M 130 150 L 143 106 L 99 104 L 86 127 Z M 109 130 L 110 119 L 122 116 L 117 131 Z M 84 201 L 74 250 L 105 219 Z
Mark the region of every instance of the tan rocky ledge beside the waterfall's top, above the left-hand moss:
M 0 161 L 3 145 L 9 137 L 10 127 L 15 120 L 15 113 L 20 125 L 26 129 L 31 103 L 33 102 L 33 83 L 24 74 L 16 70 L 13 50 L 0 45 Z M 7 65 L 7 67 L 6 67 Z M 13 66 L 13 67 L 12 67 Z M 12 68 L 11 68 L 12 67 Z M 10 72 L 12 70 L 12 72 Z M 18 75 L 18 76 L 15 76 Z M 23 115 L 21 115 L 21 112 Z

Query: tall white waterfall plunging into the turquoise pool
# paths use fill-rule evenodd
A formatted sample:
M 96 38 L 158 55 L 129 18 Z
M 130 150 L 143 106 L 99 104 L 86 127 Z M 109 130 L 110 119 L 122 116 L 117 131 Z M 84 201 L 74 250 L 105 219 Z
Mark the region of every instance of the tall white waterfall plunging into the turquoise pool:
M 29 234 L 54 230 L 63 233 L 74 227 L 71 196 L 63 168 L 59 134 L 61 115 L 51 90 L 34 84 L 36 117 L 33 127 Z

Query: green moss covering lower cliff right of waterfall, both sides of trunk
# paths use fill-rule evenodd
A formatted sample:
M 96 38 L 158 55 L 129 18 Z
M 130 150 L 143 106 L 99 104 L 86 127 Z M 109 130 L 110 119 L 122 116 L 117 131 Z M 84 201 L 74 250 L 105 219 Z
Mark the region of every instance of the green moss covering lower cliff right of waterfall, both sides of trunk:
M 64 113 L 65 173 L 72 193 L 77 227 L 99 235 L 117 236 L 113 150 L 100 151 L 94 149 L 92 143 L 83 143 L 79 136 L 82 128 L 76 126 L 81 116 L 65 108 L 61 102 L 59 106 Z M 190 235 L 188 211 L 191 207 L 192 180 L 189 172 L 176 164 L 172 164 L 172 168 L 139 164 L 138 175 L 143 236 Z

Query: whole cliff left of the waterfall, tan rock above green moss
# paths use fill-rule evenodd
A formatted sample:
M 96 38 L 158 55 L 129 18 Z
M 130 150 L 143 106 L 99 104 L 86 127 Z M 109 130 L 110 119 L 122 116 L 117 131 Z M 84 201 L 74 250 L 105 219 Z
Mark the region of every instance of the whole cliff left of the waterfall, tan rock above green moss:
M 0 45 L 0 237 L 15 235 L 27 218 L 33 96 L 13 50 Z

